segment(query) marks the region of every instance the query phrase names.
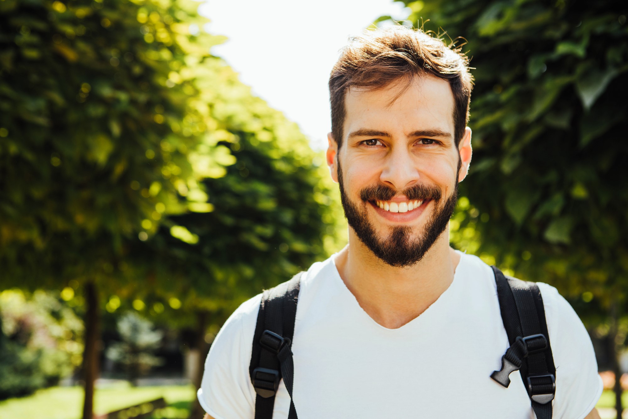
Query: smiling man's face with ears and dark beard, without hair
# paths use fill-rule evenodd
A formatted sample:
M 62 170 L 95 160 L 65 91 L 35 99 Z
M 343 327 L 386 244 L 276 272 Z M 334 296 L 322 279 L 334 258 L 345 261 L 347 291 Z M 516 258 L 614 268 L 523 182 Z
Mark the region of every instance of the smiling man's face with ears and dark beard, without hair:
M 349 226 L 396 267 L 416 264 L 445 232 L 471 158 L 468 128 L 455 145 L 448 82 L 424 75 L 403 91 L 405 83 L 350 89 L 342 147 L 330 139 L 327 152 Z

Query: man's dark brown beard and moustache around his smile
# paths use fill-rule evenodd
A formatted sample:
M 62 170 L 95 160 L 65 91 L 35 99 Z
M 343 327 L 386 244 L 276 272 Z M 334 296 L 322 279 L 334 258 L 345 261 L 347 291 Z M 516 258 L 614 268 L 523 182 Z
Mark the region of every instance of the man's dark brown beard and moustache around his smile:
M 458 170 L 460 172 L 460 159 Z M 345 211 L 347 222 L 353 228 L 355 235 L 374 255 L 382 262 L 394 267 L 409 267 L 416 264 L 431 249 L 436 239 L 445 231 L 447 223 L 452 218 L 453 210 L 458 201 L 458 177 L 453 187 L 452 194 L 443 202 L 443 196 L 436 186 L 417 184 L 404 189 L 403 194 L 409 201 L 414 199 L 430 199 L 433 201 L 434 210 L 428 220 L 425 231 L 414 240 L 411 239 L 412 228 L 409 226 L 394 226 L 387 238 L 379 238 L 369 221 L 367 205 L 369 201 L 389 201 L 396 195 L 396 190 L 383 184 L 368 186 L 360 191 L 361 205 L 355 205 L 345 193 L 342 179 L 342 168 L 338 160 L 338 186 L 340 186 L 340 201 Z

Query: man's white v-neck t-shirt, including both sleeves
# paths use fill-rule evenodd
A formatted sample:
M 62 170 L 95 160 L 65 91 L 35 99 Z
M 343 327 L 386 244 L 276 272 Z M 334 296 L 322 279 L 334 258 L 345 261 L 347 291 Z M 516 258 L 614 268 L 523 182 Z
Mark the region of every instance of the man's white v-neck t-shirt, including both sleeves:
M 333 262 L 301 276 L 296 310 L 294 402 L 308 418 L 529 419 L 519 372 L 509 388 L 490 378 L 509 347 L 489 265 L 460 252 L 447 290 L 397 329 L 367 315 Z M 554 419 L 582 419 L 602 394 L 591 340 L 555 288 L 539 283 L 556 366 Z M 243 303 L 215 338 L 198 399 L 215 419 L 253 419 L 251 346 L 261 296 Z M 288 417 L 283 381 L 273 419 Z

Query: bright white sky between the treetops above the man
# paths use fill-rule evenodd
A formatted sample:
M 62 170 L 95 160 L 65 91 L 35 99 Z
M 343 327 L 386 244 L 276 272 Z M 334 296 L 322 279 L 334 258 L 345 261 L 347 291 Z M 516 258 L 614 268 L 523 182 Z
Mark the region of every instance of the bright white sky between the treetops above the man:
M 295 121 L 311 147 L 327 147 L 327 79 L 338 50 L 379 16 L 408 16 L 392 0 L 207 0 L 206 30 L 229 40 L 212 53 L 239 72 L 253 93 Z

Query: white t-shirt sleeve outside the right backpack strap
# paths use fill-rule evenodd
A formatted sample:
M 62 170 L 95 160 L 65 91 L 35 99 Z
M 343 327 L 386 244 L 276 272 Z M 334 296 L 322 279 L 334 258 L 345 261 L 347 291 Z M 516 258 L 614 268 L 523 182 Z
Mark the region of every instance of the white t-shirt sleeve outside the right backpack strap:
M 583 419 L 602 394 L 602 379 L 587 330 L 553 286 L 539 283 L 556 366 L 555 419 Z

